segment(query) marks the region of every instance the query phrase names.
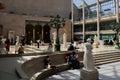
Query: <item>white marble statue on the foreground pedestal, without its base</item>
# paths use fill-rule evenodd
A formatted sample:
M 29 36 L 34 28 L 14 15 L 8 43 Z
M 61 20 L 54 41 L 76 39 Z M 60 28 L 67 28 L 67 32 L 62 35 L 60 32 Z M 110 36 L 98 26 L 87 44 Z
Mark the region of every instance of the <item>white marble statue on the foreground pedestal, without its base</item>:
M 84 68 L 86 70 L 95 70 L 92 49 L 93 47 L 91 44 L 91 39 L 87 39 L 87 42 L 84 44 L 84 59 L 83 59 Z

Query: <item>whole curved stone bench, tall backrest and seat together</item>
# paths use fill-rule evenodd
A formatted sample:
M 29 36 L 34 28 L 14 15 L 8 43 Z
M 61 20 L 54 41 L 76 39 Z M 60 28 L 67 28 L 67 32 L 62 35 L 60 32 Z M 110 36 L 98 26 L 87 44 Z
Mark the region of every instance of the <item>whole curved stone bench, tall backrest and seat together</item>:
M 58 71 L 65 71 L 68 69 L 68 65 L 66 64 L 65 56 L 68 53 L 72 53 L 72 51 L 64 51 L 64 52 L 54 52 L 49 53 L 47 55 L 50 56 L 51 62 L 55 64 L 58 68 Z M 83 52 L 76 51 L 79 55 L 79 61 L 83 60 Z M 46 54 L 46 53 L 45 53 Z M 44 66 L 44 60 L 47 55 L 41 55 L 40 57 L 32 58 L 26 62 L 24 62 L 20 67 L 16 67 L 16 72 L 19 74 L 21 79 L 29 80 L 31 77 L 33 77 L 36 74 L 40 74 L 39 76 L 47 73 L 44 77 L 50 76 L 53 73 L 49 74 L 49 71 L 51 69 L 45 69 Z M 32 78 L 31 78 L 32 79 Z

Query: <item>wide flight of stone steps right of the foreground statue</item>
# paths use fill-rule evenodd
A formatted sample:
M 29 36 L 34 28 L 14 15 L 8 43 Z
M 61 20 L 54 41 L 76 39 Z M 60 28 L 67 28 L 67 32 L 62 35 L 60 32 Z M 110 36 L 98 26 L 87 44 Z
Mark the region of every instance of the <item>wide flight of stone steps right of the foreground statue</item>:
M 93 55 L 95 65 L 102 65 L 120 61 L 120 52 L 102 53 Z

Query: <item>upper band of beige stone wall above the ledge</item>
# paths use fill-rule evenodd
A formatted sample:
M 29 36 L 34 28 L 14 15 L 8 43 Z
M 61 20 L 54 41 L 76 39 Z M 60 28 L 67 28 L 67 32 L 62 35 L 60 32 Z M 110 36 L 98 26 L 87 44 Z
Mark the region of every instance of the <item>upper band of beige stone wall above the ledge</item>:
M 5 4 L 2 12 L 33 16 L 54 16 L 69 18 L 71 0 L 1 0 Z

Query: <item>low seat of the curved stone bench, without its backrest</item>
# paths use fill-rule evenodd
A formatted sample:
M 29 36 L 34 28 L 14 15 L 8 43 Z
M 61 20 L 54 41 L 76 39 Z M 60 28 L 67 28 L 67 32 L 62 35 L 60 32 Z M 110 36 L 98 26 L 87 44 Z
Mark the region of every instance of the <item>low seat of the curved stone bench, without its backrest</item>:
M 83 67 L 83 63 L 80 62 L 80 66 Z M 43 69 L 42 71 L 40 72 L 37 72 L 36 74 L 34 74 L 30 80 L 44 80 L 46 78 L 48 78 L 49 76 L 52 76 L 54 74 L 57 74 L 59 72 L 62 72 L 62 71 L 66 71 L 66 70 L 69 70 L 69 65 L 67 63 L 65 64 L 60 64 L 60 65 L 56 65 L 56 71 L 54 71 L 53 69 L 51 68 L 47 68 L 47 69 Z

